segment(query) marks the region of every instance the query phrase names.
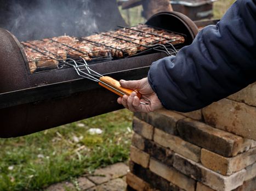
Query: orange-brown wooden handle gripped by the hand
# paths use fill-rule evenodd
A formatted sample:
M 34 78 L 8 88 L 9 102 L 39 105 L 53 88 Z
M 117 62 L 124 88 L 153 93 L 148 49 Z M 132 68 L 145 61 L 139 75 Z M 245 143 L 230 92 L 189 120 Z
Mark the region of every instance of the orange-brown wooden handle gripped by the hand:
M 119 82 L 119 81 L 113 79 L 112 77 L 103 76 L 103 77 L 100 77 L 99 80 L 100 80 L 100 82 L 99 82 L 99 85 L 100 85 L 100 86 L 103 86 L 103 87 L 109 89 L 111 92 L 117 94 L 118 96 L 123 97 L 124 94 L 127 95 L 127 96 L 130 96 L 130 94 L 132 94 L 132 92 L 136 92 L 136 94 L 137 94 L 137 96 L 139 97 L 139 99 L 141 98 L 141 94 L 140 94 L 138 91 L 136 91 L 136 89 L 124 88 L 124 87 L 122 87 L 122 86 L 120 85 L 120 82 Z M 105 85 L 105 84 L 102 83 L 102 82 L 106 83 L 106 84 L 109 85 L 110 87 L 107 86 L 107 85 Z M 116 91 L 115 89 L 113 89 L 113 88 L 111 88 L 111 87 L 117 89 L 117 90 L 120 91 L 120 92 Z M 121 93 L 121 92 L 122 92 L 122 93 Z

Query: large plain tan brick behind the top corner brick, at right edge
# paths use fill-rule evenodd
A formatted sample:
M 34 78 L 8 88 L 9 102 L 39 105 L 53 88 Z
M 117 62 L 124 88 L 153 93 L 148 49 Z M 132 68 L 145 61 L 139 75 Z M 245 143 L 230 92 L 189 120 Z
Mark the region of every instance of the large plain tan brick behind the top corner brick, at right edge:
M 222 99 L 203 109 L 206 122 L 243 138 L 256 140 L 256 108 Z

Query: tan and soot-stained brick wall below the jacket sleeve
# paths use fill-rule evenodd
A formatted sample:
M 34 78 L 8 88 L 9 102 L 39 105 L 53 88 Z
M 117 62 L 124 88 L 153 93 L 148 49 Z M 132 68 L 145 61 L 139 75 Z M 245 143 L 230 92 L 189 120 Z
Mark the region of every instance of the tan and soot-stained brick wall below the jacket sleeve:
M 136 113 L 128 190 L 256 190 L 256 83 L 190 113 Z

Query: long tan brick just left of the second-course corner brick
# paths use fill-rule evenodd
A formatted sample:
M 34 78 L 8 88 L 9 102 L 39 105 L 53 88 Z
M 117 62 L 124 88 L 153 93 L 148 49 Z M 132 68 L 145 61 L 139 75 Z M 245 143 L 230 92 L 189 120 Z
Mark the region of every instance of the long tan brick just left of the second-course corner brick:
M 195 162 L 200 161 L 201 148 L 180 139 L 178 136 L 167 134 L 162 130 L 155 128 L 153 140 L 157 144 L 167 147 Z

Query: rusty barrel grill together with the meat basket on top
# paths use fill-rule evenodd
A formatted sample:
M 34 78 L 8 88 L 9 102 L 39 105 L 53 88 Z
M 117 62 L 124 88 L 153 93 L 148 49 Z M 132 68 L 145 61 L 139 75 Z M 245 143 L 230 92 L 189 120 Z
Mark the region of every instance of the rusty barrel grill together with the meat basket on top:
M 64 35 L 22 44 L 0 28 L 0 137 L 26 135 L 121 109 L 116 94 L 81 78 L 75 70 L 80 67 L 69 64 L 88 63 L 90 69 L 116 80 L 141 79 L 152 62 L 191 44 L 197 31 L 195 23 L 176 12 L 153 15 L 146 25 L 90 37 Z

